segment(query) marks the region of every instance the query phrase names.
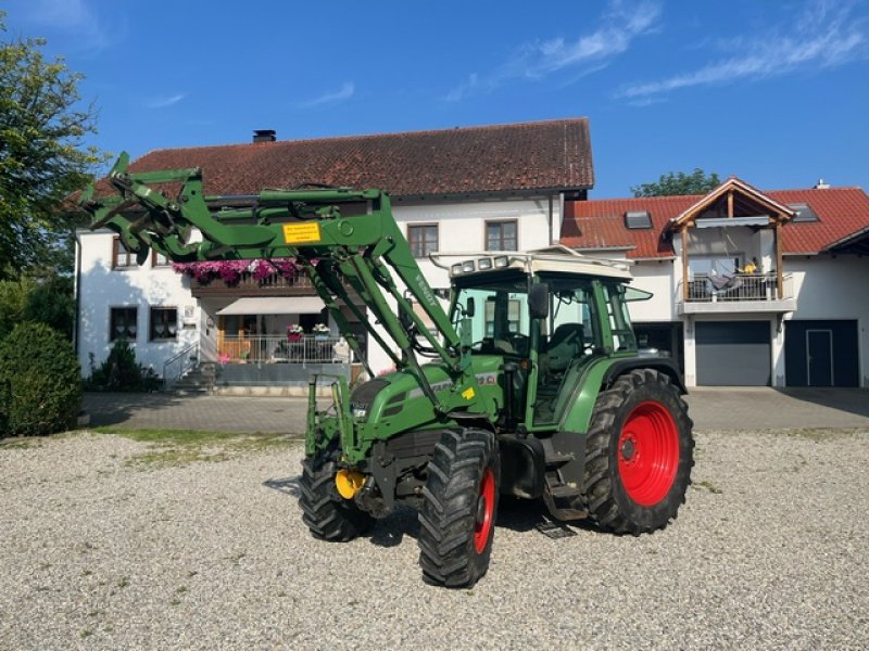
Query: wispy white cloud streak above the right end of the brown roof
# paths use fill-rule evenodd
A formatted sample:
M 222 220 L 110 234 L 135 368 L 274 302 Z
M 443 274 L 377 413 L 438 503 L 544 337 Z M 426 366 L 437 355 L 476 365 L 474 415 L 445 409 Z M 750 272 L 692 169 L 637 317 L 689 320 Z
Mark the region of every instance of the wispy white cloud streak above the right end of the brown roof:
M 637 37 L 653 31 L 659 17 L 660 4 L 656 1 L 613 0 L 595 30 L 572 39 L 557 37 L 525 43 L 492 73 L 469 75 L 444 99 L 456 102 L 475 92 L 491 92 L 509 81 L 542 79 L 559 71 L 574 72 L 575 79 L 600 71 L 626 52 Z

